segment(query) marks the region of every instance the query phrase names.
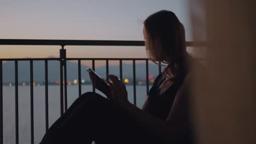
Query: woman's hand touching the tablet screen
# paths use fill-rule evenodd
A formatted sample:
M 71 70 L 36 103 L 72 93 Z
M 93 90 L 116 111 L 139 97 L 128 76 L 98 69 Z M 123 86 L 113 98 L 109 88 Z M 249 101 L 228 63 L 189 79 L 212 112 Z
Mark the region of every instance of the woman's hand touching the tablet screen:
M 108 75 L 109 80 L 107 83 L 109 84 L 111 91 L 112 91 L 112 99 L 115 101 L 115 103 L 124 106 L 126 104 L 129 104 L 129 101 L 127 99 L 127 91 L 125 84 L 118 79 L 115 75 Z

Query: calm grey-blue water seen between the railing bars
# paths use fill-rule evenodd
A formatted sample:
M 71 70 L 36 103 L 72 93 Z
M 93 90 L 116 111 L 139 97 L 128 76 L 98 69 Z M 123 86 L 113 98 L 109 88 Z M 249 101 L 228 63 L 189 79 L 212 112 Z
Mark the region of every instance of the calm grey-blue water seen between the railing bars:
M 150 88 L 151 86 L 149 86 Z M 60 117 L 60 86 L 48 86 L 49 127 Z M 133 86 L 126 85 L 128 99 L 133 103 Z M 82 93 L 91 92 L 91 85 L 82 85 Z M 96 93 L 100 91 L 96 90 Z M 19 143 L 31 143 L 31 107 L 30 86 L 19 86 Z M 39 143 L 45 134 L 45 87 L 33 87 L 34 107 L 34 143 Z M 67 106 L 71 106 L 77 99 L 78 86 L 67 86 Z M 137 107 L 141 108 L 147 97 L 145 85 L 136 86 Z M 4 144 L 15 143 L 15 87 L 3 86 L 3 142 Z

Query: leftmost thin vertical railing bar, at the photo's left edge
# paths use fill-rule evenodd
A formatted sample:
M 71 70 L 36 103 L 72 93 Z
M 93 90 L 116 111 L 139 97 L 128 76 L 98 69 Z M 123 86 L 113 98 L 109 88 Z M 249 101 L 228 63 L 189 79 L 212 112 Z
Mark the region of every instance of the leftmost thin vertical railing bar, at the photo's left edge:
M 0 144 L 3 144 L 3 62 L 0 61 Z

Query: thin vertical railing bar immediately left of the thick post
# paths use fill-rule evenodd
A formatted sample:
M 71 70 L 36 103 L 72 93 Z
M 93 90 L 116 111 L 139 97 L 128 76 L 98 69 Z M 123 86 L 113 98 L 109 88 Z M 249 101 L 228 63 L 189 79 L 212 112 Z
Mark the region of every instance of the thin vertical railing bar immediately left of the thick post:
M 48 61 L 44 61 L 44 81 L 45 81 L 45 131 L 49 128 L 49 110 L 48 110 Z

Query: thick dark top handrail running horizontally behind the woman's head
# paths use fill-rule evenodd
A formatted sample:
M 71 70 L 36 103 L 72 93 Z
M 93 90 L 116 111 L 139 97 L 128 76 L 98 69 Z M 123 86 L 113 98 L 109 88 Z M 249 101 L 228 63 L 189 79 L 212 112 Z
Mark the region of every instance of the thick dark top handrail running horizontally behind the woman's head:
M 0 45 L 60 45 L 60 46 L 144 46 L 136 40 L 46 40 L 46 39 L 0 39 Z M 187 46 L 205 46 L 202 41 L 187 41 Z

